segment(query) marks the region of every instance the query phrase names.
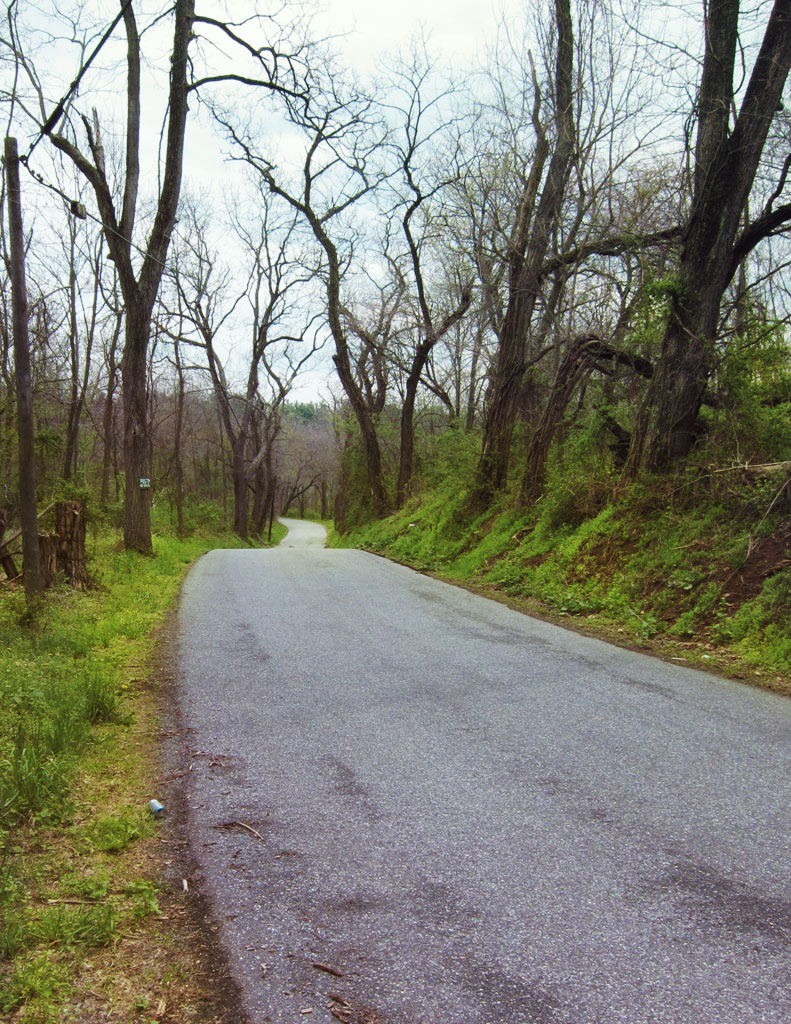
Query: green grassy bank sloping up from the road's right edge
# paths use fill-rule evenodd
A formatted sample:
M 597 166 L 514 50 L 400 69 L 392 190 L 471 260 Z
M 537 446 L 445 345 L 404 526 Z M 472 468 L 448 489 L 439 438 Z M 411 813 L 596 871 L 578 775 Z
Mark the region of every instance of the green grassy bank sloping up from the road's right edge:
M 458 474 L 447 479 L 458 481 Z M 330 545 L 362 547 L 622 646 L 791 695 L 791 522 L 754 486 L 596 492 L 557 481 L 528 509 L 470 512 L 458 482 Z

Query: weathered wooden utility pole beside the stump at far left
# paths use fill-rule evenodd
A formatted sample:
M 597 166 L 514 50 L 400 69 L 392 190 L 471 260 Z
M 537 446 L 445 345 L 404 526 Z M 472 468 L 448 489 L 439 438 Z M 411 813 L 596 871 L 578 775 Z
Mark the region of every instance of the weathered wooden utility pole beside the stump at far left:
M 28 337 L 28 289 L 25 284 L 25 236 L 22 225 L 19 157 L 16 139 L 5 139 L 5 179 L 8 196 L 8 244 L 11 254 L 13 361 L 16 379 L 16 424 L 19 438 L 19 520 L 23 583 L 30 601 L 42 591 L 39 530 L 36 510 L 36 453 L 34 447 L 33 386 Z

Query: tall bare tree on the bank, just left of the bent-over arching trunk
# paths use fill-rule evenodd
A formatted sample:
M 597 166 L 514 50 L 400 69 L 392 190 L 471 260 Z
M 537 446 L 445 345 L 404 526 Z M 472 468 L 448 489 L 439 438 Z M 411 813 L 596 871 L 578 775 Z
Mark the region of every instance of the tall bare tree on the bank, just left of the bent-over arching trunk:
M 644 57 L 620 41 L 600 5 L 580 0 L 573 8 L 558 0 L 553 10 L 552 31 L 538 27 L 541 62 L 506 37 L 515 49 L 511 58 L 524 68 L 523 108 L 508 83 L 495 78 L 499 111 L 491 122 L 492 144 L 477 161 L 477 174 L 470 168 L 462 191 L 484 305 L 497 337 L 478 465 L 477 496 L 485 501 L 507 482 L 521 419 L 531 443 L 546 411 L 544 388 L 569 339 L 590 333 L 587 311 L 575 301 L 583 275 L 608 272 L 610 257 L 666 246 L 679 233 L 677 224 L 654 227 L 631 210 L 625 215 L 619 202 L 619 191 L 633 193 L 629 182 L 638 176 L 635 138 L 650 138 L 655 129 L 654 118 L 646 115 L 638 128 L 635 116 L 646 103 Z M 545 357 L 549 373 L 539 368 Z

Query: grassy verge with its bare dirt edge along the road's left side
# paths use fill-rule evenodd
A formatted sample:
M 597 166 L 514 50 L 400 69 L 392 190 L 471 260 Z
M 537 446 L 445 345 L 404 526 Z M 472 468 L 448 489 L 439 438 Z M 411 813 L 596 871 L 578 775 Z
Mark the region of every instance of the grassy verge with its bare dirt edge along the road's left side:
M 166 881 L 178 838 L 148 801 L 166 781 L 163 623 L 195 559 L 239 546 L 163 535 L 140 558 L 98 531 L 88 593 L 31 613 L 0 592 L 0 1019 L 233 1019 L 189 883 Z

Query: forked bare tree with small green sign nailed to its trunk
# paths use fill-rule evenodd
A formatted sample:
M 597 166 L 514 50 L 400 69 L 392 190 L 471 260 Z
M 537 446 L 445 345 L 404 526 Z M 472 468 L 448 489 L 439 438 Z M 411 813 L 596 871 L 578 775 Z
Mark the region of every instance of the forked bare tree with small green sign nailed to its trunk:
M 12 37 L 11 44 L 18 54 L 20 67 L 39 96 L 43 122 L 41 135 L 49 137 L 52 144 L 74 163 L 92 188 L 111 258 L 118 271 L 125 304 L 125 342 L 121 359 L 126 477 L 124 540 L 128 548 L 149 552 L 152 550 L 150 492 L 145 481 L 151 478 L 152 445 L 145 419 L 145 376 L 153 309 L 165 270 L 180 191 L 188 100 L 191 94 L 197 95 L 198 90 L 211 90 L 228 82 L 255 84 L 269 91 L 284 91 L 294 95 L 288 83 L 294 78 L 303 44 L 298 44 L 294 51 L 288 51 L 284 55 L 277 45 L 280 30 L 275 16 L 253 15 L 252 18 L 245 18 L 243 24 L 246 31 L 262 28 L 264 34 L 277 37 L 275 43 L 272 39 L 264 39 L 252 44 L 242 38 L 239 25 L 226 19 L 196 15 L 195 0 L 175 0 L 172 8 L 173 41 L 167 90 L 167 128 L 163 132 L 164 160 L 153 224 L 144 245 L 138 247 L 134 238 L 140 186 L 142 32 L 137 25 L 136 8 L 137 5 L 132 0 L 123 0 L 118 18 L 87 58 L 87 47 L 83 43 L 81 52 L 84 59 L 80 71 L 66 96 L 48 116 L 35 69 L 20 53 L 18 38 Z M 74 96 L 88 67 L 120 19 L 123 19 L 126 30 L 126 121 L 123 171 L 116 186 L 108 166 L 99 117 L 94 110 L 91 117 L 82 114 L 75 118 Z M 156 20 L 159 22 L 160 18 Z M 198 52 L 207 61 L 207 70 L 203 73 L 197 70 L 191 58 L 194 32 L 199 27 L 204 37 Z M 234 49 L 235 53 L 228 54 L 227 48 Z M 225 68 L 231 57 L 234 60 L 233 70 L 217 72 L 220 67 L 218 59 L 215 59 L 217 57 L 224 61 Z M 247 66 L 240 70 L 242 57 Z M 64 119 L 66 127 L 58 130 L 57 126 Z M 75 120 L 79 128 L 71 127 Z M 78 143 L 79 134 L 86 140 L 87 152 Z

